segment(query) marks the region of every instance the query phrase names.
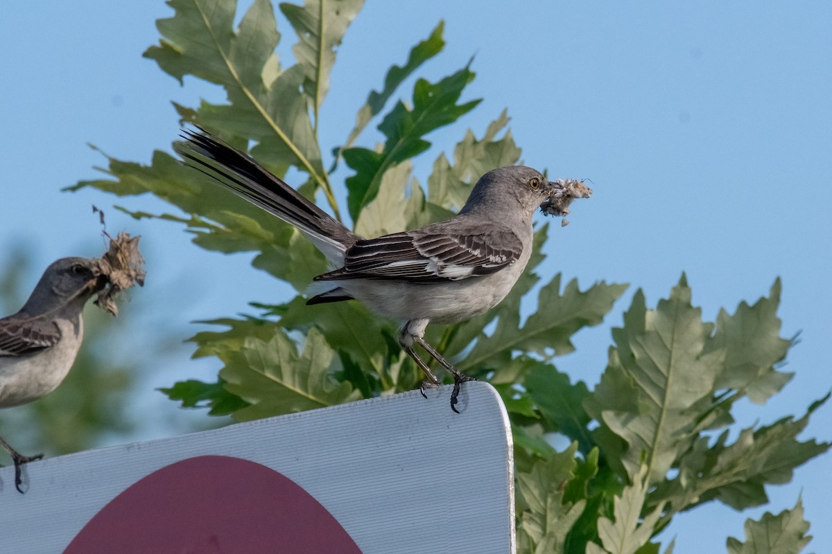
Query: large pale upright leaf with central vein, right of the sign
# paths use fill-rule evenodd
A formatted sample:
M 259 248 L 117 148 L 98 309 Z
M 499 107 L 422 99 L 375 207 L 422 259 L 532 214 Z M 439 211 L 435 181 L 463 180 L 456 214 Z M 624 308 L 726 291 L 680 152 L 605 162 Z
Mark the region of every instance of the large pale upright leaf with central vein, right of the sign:
M 626 440 L 629 448 L 621 461 L 631 476 L 644 459 L 650 482 L 661 481 L 695 439 L 696 417 L 710 407 L 721 367 L 721 351 L 702 355 L 712 328 L 701 321 L 701 310 L 691 306 L 683 275 L 656 310 L 647 310 L 644 296 L 636 292 L 624 327 L 612 330 L 617 355 L 610 356 L 607 371 L 626 374 L 636 387 L 637 402 L 628 400 L 626 410 L 609 409 L 604 406 L 609 395 L 602 390 L 587 409 Z

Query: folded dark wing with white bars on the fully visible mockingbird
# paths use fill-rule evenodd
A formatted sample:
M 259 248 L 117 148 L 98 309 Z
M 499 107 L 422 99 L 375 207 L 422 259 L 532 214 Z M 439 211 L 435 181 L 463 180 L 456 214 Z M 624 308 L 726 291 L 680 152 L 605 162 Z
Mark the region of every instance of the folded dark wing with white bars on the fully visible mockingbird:
M 458 281 L 498 272 L 522 254 L 520 238 L 493 225 L 463 228 L 428 226 L 418 231 L 359 240 L 347 251 L 344 267 L 315 277 Z

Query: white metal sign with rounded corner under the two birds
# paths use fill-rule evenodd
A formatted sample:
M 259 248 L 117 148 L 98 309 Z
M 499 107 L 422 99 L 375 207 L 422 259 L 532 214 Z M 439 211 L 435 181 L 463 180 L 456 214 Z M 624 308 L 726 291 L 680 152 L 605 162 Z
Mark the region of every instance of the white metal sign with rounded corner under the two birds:
M 502 401 L 426 392 L 0 468 L 0 552 L 514 552 Z

